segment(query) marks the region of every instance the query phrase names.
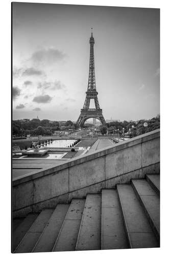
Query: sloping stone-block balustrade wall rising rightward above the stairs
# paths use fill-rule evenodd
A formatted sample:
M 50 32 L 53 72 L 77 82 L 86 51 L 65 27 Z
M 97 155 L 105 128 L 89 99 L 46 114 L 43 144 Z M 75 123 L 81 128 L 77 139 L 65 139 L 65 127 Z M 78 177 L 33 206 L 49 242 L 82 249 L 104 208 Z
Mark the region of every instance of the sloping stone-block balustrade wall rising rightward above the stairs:
M 56 207 L 72 198 L 100 193 L 102 188 L 159 173 L 160 131 L 137 136 L 104 150 L 40 169 L 32 175 L 13 179 L 13 216 Z

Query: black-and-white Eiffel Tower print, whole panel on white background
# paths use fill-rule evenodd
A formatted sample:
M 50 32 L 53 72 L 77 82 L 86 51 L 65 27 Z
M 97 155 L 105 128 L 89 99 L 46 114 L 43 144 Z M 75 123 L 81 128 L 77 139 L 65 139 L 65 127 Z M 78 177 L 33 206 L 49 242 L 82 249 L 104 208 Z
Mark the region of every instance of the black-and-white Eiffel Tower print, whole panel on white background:
M 160 9 L 11 12 L 11 252 L 160 247 Z

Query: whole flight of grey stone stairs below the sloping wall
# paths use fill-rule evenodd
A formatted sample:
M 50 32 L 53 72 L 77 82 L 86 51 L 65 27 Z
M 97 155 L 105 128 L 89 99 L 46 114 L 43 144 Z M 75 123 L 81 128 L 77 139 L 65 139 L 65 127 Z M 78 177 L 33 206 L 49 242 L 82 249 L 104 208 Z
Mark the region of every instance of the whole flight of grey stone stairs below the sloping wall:
M 159 247 L 160 176 L 13 220 L 13 252 Z

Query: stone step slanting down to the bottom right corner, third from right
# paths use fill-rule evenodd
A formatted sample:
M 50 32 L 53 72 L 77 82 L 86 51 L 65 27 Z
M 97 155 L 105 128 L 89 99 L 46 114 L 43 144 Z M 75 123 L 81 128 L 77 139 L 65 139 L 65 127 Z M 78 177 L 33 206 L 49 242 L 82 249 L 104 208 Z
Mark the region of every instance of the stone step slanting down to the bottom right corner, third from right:
M 158 247 L 155 234 L 132 185 L 117 185 L 117 192 L 130 248 Z

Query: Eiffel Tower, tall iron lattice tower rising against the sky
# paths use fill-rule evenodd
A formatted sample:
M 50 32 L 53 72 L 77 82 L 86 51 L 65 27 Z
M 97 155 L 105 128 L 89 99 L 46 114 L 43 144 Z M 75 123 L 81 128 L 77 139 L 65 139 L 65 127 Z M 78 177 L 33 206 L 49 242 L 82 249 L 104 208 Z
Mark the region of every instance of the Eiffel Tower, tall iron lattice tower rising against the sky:
M 91 37 L 90 37 L 90 63 L 89 63 L 89 77 L 88 77 L 88 87 L 86 92 L 86 98 L 81 109 L 80 116 L 77 120 L 77 126 L 83 126 L 84 122 L 89 118 L 96 118 L 101 121 L 102 124 L 105 124 L 105 118 L 102 114 L 102 109 L 99 105 L 98 92 L 96 91 L 95 85 L 95 72 L 94 72 L 94 37 L 92 34 L 91 28 Z M 95 109 L 90 109 L 90 100 L 94 99 Z

